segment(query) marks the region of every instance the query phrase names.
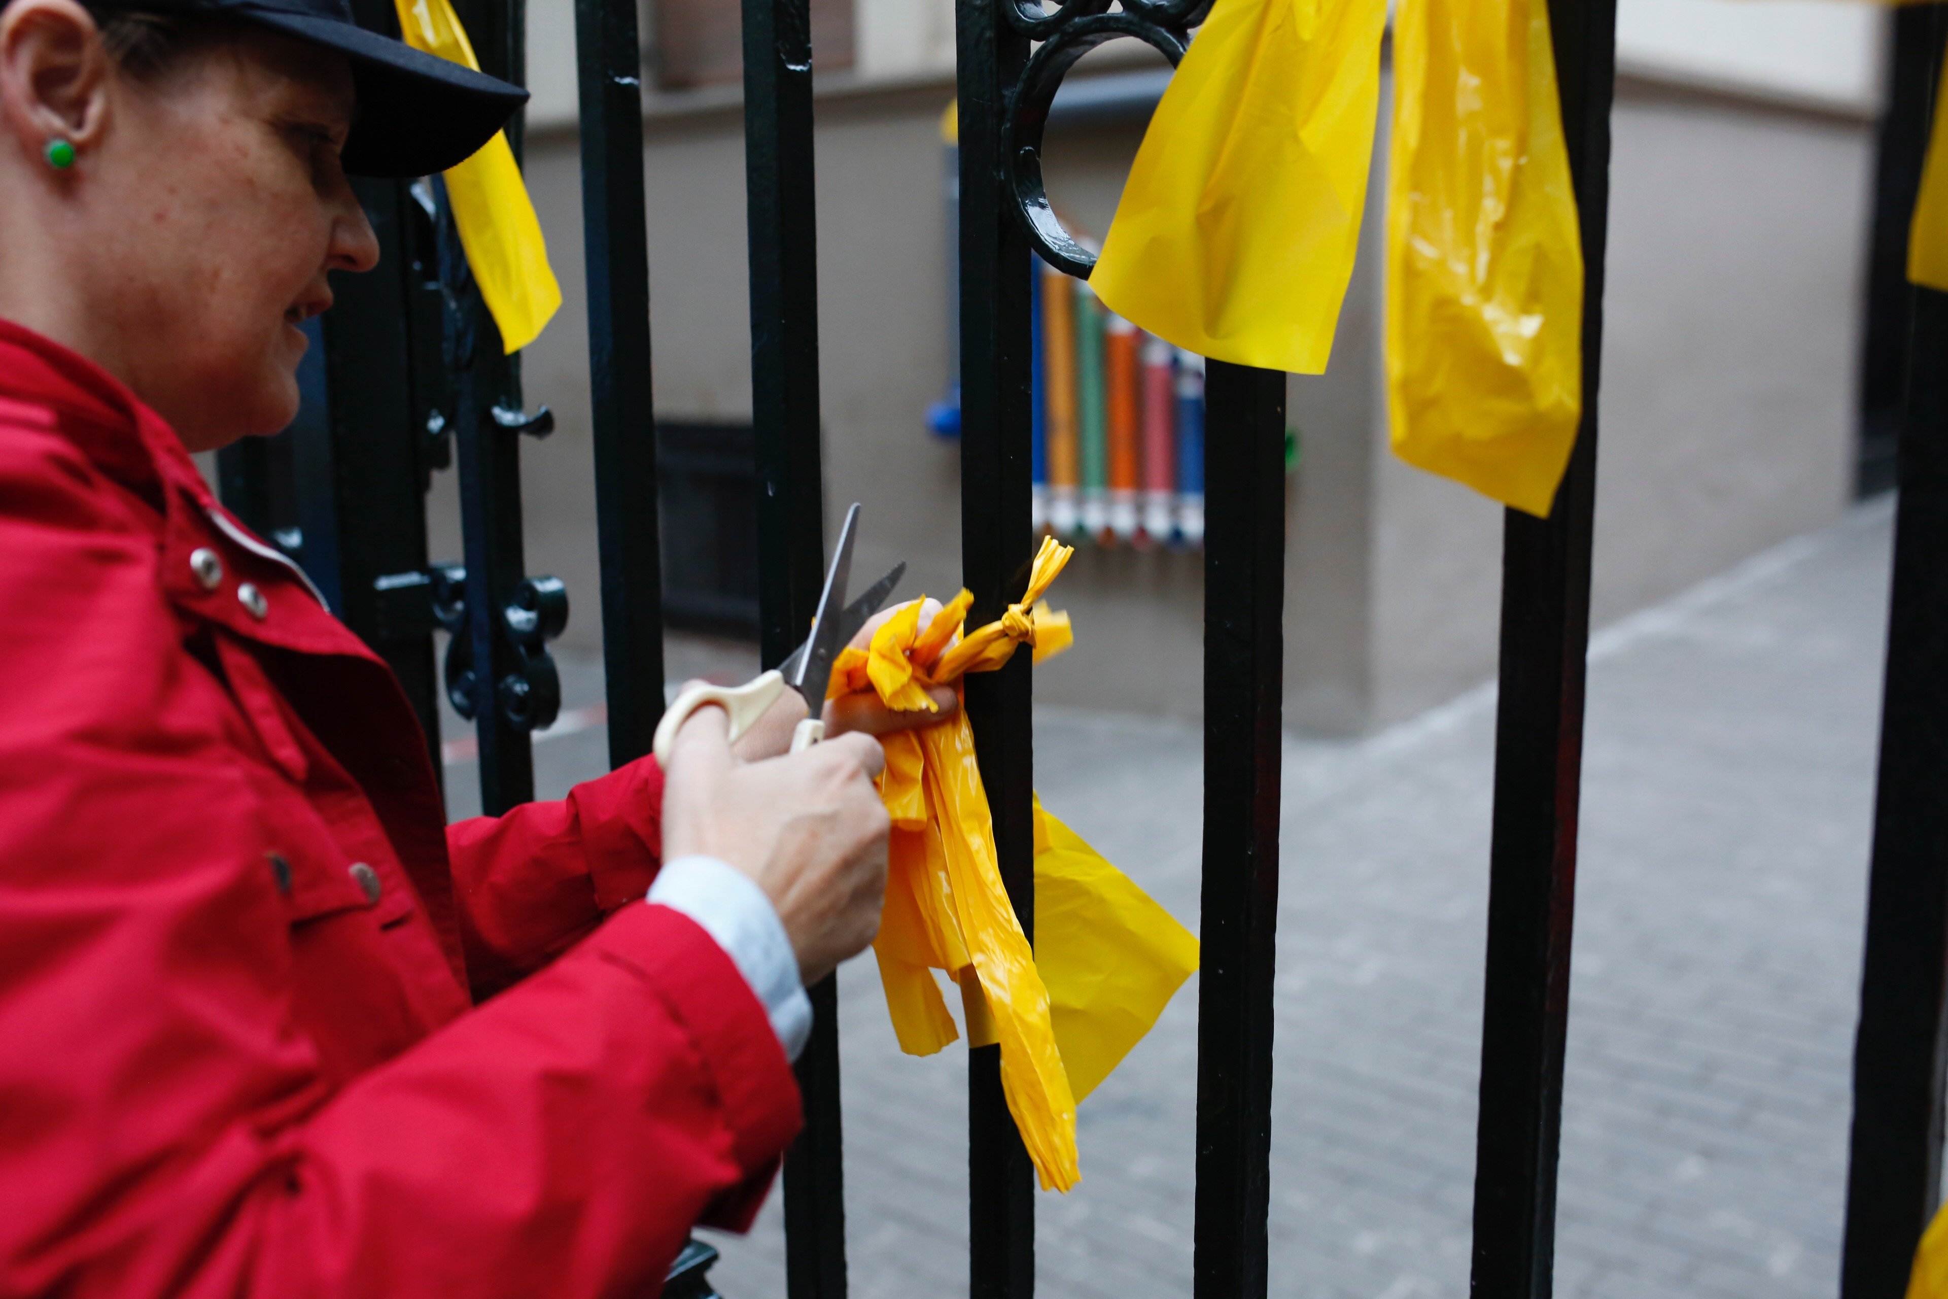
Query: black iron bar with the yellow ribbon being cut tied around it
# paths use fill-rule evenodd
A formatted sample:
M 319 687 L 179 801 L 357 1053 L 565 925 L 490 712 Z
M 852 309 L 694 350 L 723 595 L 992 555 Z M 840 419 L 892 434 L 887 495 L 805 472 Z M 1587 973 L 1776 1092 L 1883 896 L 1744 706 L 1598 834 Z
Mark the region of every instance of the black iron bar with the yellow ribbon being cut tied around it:
M 958 0 L 960 119 L 960 553 L 970 621 L 1021 596 L 1029 520 L 1029 243 L 1007 206 L 1001 127 L 1029 41 L 1007 0 Z M 980 777 L 993 810 L 1001 882 L 1034 937 L 1034 738 L 1029 656 L 966 682 Z M 1001 1095 L 1001 1048 L 968 1052 L 968 1278 L 972 1299 L 1034 1293 L 1034 1169 Z

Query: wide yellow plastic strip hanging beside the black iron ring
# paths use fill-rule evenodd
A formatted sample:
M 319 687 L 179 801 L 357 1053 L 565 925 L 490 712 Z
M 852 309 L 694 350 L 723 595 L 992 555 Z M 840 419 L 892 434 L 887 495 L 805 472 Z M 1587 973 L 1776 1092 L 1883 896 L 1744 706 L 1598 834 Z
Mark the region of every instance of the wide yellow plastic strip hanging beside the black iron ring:
M 1218 0 L 1089 284 L 1177 347 L 1321 374 L 1366 208 L 1385 0 Z

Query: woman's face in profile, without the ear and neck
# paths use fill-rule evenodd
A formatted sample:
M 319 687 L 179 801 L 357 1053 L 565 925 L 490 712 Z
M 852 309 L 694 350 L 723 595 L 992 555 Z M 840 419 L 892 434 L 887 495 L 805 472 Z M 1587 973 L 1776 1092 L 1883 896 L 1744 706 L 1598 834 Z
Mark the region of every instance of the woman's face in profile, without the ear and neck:
M 331 306 L 325 273 L 378 243 L 339 167 L 345 62 L 244 31 L 154 82 L 119 80 L 97 177 L 123 245 L 105 265 L 121 378 L 191 450 L 277 432 L 298 413 L 298 325 Z

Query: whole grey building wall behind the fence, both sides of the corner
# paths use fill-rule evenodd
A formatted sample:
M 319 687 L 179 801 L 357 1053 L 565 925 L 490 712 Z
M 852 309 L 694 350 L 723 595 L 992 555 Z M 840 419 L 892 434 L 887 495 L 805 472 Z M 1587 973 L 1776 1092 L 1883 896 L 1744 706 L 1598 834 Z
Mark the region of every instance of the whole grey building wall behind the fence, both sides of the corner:
M 861 565 L 910 561 L 906 592 L 958 586 L 958 467 L 921 427 L 947 382 L 945 88 L 818 103 L 820 345 L 828 506 L 863 501 Z M 1385 115 L 1385 113 L 1383 113 Z M 1052 132 L 1056 203 L 1108 226 L 1140 123 Z M 653 117 L 656 409 L 750 405 L 742 129 L 734 111 Z M 1381 146 L 1383 148 L 1383 146 Z M 1627 88 L 1615 117 L 1595 615 L 1617 617 L 1833 518 L 1849 487 L 1864 125 Z M 573 136 L 538 132 L 530 189 L 567 292 L 526 356 L 561 430 L 526 450 L 530 571 L 569 580 L 571 652 L 600 647 L 586 434 L 581 187 Z M 1330 372 L 1295 378 L 1288 715 L 1358 732 L 1492 676 L 1500 510 L 1387 450 L 1375 183 Z M 450 475 L 446 475 L 450 477 Z M 458 553 L 452 483 L 436 553 Z M 1219 502 L 1214 502 L 1214 506 Z M 828 514 L 836 510 L 828 508 Z M 861 569 L 861 571 L 865 571 Z M 1194 715 L 1194 555 L 1093 551 L 1056 586 L 1071 654 L 1054 703 Z

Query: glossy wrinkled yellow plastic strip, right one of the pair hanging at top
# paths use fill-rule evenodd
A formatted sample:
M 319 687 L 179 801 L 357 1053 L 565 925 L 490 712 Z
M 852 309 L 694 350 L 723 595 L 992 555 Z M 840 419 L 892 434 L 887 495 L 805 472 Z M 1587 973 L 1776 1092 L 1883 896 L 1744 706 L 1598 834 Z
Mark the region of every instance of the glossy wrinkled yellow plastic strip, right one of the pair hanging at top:
M 1403 0 L 1387 395 L 1406 464 L 1547 516 L 1582 415 L 1582 243 L 1545 0 Z

